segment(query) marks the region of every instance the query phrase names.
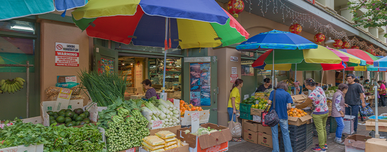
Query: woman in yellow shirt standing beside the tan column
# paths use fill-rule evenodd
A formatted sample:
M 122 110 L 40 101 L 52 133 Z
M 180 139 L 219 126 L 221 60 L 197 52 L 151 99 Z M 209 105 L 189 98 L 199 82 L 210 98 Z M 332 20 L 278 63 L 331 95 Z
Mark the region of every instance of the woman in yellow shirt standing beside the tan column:
M 234 117 L 236 122 L 236 114 L 239 113 L 240 93 L 239 89 L 243 86 L 243 80 L 237 79 L 233 84 L 233 88 L 230 90 L 229 104 L 227 106 L 227 112 L 229 113 L 229 121 Z

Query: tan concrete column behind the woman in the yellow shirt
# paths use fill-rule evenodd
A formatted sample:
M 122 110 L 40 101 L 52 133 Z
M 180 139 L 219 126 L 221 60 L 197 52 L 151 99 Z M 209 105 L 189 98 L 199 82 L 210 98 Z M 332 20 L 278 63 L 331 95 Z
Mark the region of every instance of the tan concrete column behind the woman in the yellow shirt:
M 233 86 L 231 83 L 231 67 L 237 67 L 238 78 L 240 75 L 240 52 L 235 48 L 219 48 L 213 50 L 213 55 L 217 56 L 217 85 L 219 87 L 219 94 L 217 95 L 217 124 L 227 126 L 229 115 L 227 112 L 227 106 L 230 97 L 230 90 Z M 231 56 L 238 57 L 238 62 L 232 62 Z M 248 83 L 248 82 L 244 82 Z M 239 90 L 241 92 L 241 90 Z M 241 95 L 241 99 L 243 99 Z

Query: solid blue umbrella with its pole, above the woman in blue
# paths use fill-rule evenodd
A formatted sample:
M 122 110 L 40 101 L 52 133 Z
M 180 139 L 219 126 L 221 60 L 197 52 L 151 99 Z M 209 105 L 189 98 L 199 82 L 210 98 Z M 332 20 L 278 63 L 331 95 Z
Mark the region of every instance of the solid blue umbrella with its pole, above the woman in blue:
M 317 49 L 318 45 L 303 38 L 300 35 L 280 31 L 272 30 L 269 32 L 259 33 L 253 37 L 250 37 L 247 41 L 241 43 L 236 47 L 238 51 L 256 51 L 256 50 L 269 50 L 269 49 L 282 49 L 282 50 L 302 50 L 302 49 Z M 286 51 L 291 53 L 292 51 Z M 272 51 L 272 66 L 274 69 L 274 50 Z M 280 56 L 284 56 L 281 54 Z M 301 62 L 301 61 L 299 61 Z M 274 73 L 274 72 L 273 72 Z M 274 81 L 274 74 L 271 79 Z M 274 88 L 274 84 L 271 89 Z

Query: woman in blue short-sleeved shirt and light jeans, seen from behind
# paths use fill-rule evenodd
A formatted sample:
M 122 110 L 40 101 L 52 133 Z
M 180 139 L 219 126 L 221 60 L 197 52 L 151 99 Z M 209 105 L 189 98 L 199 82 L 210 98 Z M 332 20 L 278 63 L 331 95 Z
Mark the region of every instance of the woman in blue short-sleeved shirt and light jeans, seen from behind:
M 287 92 L 288 85 L 285 82 L 279 82 L 277 85 L 277 90 L 275 91 L 275 112 L 277 112 L 280 122 L 278 123 L 281 127 L 282 138 L 284 138 L 285 152 L 292 152 L 292 144 L 290 143 L 289 131 L 288 131 L 288 115 L 287 111 L 292 107 L 293 99 L 291 95 Z M 271 104 L 271 101 L 274 98 L 274 91 L 271 91 L 269 96 L 268 104 Z M 272 110 L 273 107 L 270 107 Z M 278 141 L 278 124 L 271 127 L 271 138 L 273 140 L 273 151 L 279 152 L 280 145 Z

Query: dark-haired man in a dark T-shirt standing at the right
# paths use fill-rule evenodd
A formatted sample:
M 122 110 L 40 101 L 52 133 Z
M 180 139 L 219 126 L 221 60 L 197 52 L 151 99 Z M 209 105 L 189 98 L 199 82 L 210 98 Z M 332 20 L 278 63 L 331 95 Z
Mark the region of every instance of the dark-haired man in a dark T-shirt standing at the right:
M 359 105 L 362 104 L 363 107 L 366 107 L 366 102 L 364 100 L 364 91 L 360 84 L 354 82 L 355 75 L 352 73 L 347 74 L 348 82 L 348 91 L 345 94 L 345 104 L 350 105 L 350 107 L 345 107 L 345 115 L 351 115 L 355 117 L 353 124 L 354 134 L 357 133 L 357 114 L 359 112 Z M 352 112 L 351 112 L 352 111 Z

